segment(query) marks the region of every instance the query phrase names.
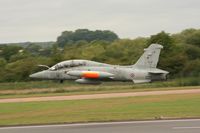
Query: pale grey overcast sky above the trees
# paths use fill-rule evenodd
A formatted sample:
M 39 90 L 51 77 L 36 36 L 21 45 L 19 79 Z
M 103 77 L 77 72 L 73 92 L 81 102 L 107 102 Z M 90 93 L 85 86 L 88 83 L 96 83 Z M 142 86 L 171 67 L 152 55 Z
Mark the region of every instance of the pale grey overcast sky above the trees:
M 55 41 L 78 28 L 120 38 L 200 28 L 200 0 L 0 0 L 0 43 Z

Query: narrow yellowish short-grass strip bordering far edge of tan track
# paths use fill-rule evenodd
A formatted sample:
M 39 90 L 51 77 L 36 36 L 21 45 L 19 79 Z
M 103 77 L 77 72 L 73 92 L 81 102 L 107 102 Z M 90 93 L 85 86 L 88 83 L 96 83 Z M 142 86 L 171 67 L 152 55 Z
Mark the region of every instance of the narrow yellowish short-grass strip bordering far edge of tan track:
M 9 90 L 0 90 L 0 99 L 107 94 L 107 93 L 129 93 L 129 92 L 147 92 L 147 91 L 167 91 L 167 90 L 188 90 L 188 89 L 193 89 L 193 90 L 200 89 L 200 86 L 134 88 L 131 85 L 123 85 L 123 86 L 113 85 L 113 86 L 83 86 L 83 87 L 76 87 L 76 88 L 66 87 L 66 88 L 61 88 L 61 89 L 60 88 L 44 88 L 44 89 L 36 88 L 36 89 L 23 89 L 23 90 L 9 89 Z

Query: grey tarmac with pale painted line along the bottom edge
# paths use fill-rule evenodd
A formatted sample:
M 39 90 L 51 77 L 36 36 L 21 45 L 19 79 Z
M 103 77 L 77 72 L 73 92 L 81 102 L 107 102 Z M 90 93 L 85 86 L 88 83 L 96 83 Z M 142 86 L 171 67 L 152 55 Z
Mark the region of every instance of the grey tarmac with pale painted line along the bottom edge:
M 200 119 L 1 127 L 0 133 L 200 133 Z

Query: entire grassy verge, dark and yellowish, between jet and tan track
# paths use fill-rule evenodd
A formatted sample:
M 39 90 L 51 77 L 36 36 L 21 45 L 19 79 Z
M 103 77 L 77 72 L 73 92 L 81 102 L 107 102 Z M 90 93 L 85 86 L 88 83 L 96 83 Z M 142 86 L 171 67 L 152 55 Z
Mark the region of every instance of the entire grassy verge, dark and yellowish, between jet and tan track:
M 112 92 L 135 92 L 150 90 L 187 89 L 179 86 L 200 85 L 200 78 L 183 78 L 166 82 L 154 82 L 146 84 L 133 84 L 132 82 L 106 82 L 101 85 L 80 85 L 74 81 L 66 81 L 60 84 L 55 81 L 34 81 L 0 83 L 0 99 L 14 97 L 75 95 Z M 174 88 L 178 87 L 178 88 Z M 192 87 L 192 88 L 200 88 Z M 189 88 L 188 88 L 189 89 Z

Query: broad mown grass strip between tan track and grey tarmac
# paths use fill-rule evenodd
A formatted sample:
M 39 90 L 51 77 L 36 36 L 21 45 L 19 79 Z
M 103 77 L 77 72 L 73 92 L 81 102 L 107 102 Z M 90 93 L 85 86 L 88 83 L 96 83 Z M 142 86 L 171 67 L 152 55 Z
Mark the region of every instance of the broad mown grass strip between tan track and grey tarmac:
M 0 125 L 200 117 L 200 94 L 1 103 Z

